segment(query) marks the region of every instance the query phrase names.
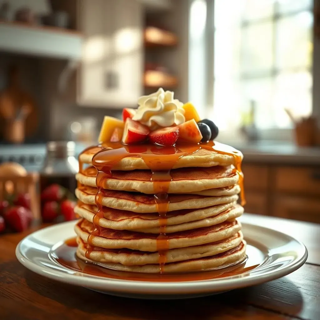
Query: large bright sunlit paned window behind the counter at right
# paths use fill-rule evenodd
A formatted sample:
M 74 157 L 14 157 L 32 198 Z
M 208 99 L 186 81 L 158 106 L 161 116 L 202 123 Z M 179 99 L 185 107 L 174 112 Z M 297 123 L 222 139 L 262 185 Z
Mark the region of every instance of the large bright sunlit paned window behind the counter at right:
M 252 118 L 259 129 L 290 128 L 285 108 L 310 115 L 312 24 L 312 0 L 215 0 L 210 116 L 220 129 Z

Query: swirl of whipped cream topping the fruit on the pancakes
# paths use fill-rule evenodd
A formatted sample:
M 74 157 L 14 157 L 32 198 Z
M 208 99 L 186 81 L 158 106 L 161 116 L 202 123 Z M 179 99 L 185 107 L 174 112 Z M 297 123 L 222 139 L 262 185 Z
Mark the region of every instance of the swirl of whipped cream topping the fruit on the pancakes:
M 139 121 L 151 130 L 159 127 L 170 127 L 185 122 L 183 103 L 173 99 L 172 91 L 162 88 L 155 93 L 141 96 L 138 109 L 132 120 Z

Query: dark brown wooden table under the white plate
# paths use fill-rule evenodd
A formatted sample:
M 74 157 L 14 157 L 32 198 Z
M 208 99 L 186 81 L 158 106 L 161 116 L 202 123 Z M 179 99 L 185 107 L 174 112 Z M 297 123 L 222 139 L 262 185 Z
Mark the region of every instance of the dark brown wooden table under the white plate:
M 319 320 L 320 225 L 256 215 L 250 215 L 250 221 L 286 231 L 304 242 L 309 251 L 307 263 L 266 284 L 186 300 L 118 298 L 61 284 L 38 276 L 16 260 L 16 245 L 34 229 L 0 236 L 0 319 Z

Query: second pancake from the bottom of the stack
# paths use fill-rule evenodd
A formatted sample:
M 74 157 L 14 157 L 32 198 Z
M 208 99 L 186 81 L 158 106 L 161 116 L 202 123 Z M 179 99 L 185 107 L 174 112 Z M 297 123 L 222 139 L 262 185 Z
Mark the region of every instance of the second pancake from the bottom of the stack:
M 243 235 L 241 231 L 239 231 L 234 236 L 217 242 L 187 248 L 171 249 L 166 252 L 166 262 L 171 263 L 216 255 L 235 248 L 241 244 L 242 240 Z M 79 252 L 81 255 L 85 256 L 88 247 L 87 243 L 80 237 L 77 237 L 77 243 Z M 159 253 L 130 249 L 105 249 L 93 247 L 89 254 L 89 259 L 103 263 L 121 263 L 125 266 L 141 266 L 145 264 L 159 263 Z

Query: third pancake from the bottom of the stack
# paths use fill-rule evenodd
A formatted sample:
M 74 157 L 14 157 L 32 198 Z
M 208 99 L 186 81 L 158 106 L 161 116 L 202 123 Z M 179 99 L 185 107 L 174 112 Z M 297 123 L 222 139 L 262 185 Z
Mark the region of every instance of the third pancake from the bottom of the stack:
M 93 223 L 81 219 L 75 226 L 77 236 L 88 242 L 88 236 L 94 231 Z M 225 221 L 218 225 L 167 234 L 168 249 L 184 248 L 219 241 L 235 235 L 241 229 L 240 222 Z M 140 251 L 156 252 L 157 234 L 126 230 L 101 229 L 99 236 L 91 235 L 93 246 L 107 249 L 128 248 Z M 159 243 L 158 243 L 159 245 Z

